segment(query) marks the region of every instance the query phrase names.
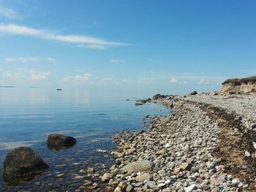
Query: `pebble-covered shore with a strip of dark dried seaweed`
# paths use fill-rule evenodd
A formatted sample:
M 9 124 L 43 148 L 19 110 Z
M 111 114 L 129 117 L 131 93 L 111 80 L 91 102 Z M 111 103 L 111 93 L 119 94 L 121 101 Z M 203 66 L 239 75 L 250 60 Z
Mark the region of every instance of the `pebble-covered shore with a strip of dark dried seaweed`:
M 256 191 L 256 96 L 218 93 L 157 96 L 173 109 L 150 116 L 148 131 L 113 141 L 116 164 L 105 191 Z

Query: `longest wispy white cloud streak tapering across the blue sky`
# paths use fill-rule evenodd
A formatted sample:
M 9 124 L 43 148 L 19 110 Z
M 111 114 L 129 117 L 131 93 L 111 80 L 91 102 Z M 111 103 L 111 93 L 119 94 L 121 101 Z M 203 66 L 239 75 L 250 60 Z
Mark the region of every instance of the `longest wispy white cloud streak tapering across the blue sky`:
M 32 36 L 40 39 L 47 39 L 56 42 L 67 42 L 78 45 L 78 47 L 87 47 L 91 49 L 105 49 L 105 47 L 128 46 L 131 44 L 122 42 L 111 42 L 104 39 L 89 36 L 61 35 L 56 32 L 42 29 L 18 26 L 16 24 L 0 24 L 0 33 L 8 35 Z

